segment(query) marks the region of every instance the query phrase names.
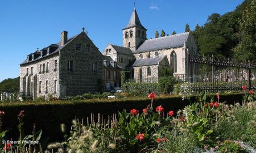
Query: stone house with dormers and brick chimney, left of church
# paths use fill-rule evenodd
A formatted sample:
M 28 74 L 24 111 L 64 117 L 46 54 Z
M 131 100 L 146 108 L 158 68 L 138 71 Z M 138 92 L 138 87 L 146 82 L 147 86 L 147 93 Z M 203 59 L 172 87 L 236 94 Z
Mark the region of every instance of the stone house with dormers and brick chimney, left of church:
M 36 50 L 20 64 L 20 92 L 23 96 L 48 94 L 58 98 L 97 92 L 103 75 L 103 56 L 84 32 Z

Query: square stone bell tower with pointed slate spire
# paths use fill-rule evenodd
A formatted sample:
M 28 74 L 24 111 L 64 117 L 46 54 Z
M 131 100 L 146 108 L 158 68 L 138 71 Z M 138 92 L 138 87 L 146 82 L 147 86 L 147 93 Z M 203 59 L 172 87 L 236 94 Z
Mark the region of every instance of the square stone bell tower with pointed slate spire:
M 136 9 L 133 9 L 129 23 L 123 30 L 123 46 L 133 52 L 147 39 L 147 29 L 139 21 Z

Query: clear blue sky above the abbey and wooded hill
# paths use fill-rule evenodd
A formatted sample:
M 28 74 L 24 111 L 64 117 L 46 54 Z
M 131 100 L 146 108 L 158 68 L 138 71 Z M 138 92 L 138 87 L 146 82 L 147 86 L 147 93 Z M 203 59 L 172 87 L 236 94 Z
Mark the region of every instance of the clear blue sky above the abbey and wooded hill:
M 184 32 L 203 25 L 210 14 L 233 11 L 242 0 L 136 0 L 135 7 L 147 38 L 155 31 Z M 19 64 L 27 55 L 80 33 L 82 27 L 102 50 L 108 42 L 122 45 L 122 28 L 127 25 L 134 0 L 1 0 L 0 1 L 0 82 L 19 76 Z

